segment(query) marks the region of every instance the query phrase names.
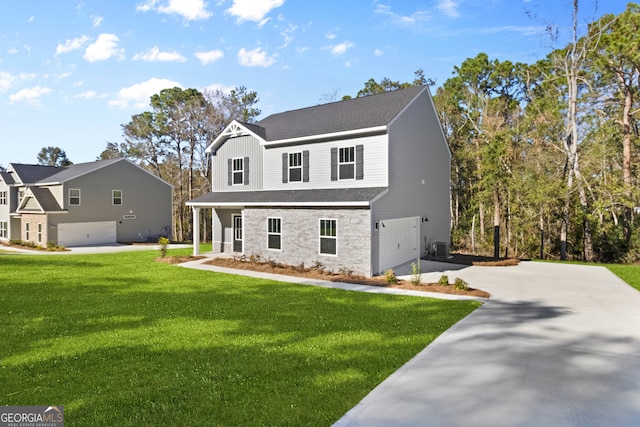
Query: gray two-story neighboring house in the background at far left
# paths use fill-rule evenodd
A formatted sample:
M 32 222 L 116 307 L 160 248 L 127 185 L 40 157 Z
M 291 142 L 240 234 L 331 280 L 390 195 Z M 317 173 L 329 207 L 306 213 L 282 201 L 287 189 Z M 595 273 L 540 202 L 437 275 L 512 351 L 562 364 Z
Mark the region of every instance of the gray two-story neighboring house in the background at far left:
M 46 246 L 140 242 L 170 234 L 173 188 L 119 158 L 0 173 L 0 240 Z

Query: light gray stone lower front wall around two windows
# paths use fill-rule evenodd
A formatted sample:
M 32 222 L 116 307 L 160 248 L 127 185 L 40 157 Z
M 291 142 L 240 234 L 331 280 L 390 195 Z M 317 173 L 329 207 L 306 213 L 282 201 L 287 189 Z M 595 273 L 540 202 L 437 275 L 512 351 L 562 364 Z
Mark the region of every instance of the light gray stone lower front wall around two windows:
M 282 250 L 267 249 L 267 218 L 282 219 Z M 338 254 L 320 254 L 320 219 L 337 220 Z M 371 211 L 368 209 L 244 210 L 244 254 L 263 260 L 371 276 Z

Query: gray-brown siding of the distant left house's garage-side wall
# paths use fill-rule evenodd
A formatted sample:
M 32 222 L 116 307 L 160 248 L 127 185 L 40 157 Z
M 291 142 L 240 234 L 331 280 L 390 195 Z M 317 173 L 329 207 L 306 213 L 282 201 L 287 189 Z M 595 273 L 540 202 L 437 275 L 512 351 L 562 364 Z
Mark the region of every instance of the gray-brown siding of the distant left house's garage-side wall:
M 69 205 L 70 188 L 80 190 L 80 206 Z M 112 204 L 112 190 L 122 190 L 122 205 Z M 172 226 L 171 186 L 128 161 L 71 179 L 55 194 L 62 196 L 60 205 L 68 210 L 49 215 L 49 239 L 55 242 L 60 223 L 116 221 L 119 242 L 157 238 L 164 227 Z M 135 219 L 125 218 L 130 215 Z

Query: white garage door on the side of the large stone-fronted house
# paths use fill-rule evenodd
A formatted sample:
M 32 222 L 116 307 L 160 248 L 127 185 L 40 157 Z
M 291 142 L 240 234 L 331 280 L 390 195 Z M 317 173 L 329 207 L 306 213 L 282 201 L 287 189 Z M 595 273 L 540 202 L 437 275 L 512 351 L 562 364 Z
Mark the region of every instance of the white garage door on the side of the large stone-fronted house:
M 387 219 L 378 222 L 380 271 L 420 257 L 420 217 Z

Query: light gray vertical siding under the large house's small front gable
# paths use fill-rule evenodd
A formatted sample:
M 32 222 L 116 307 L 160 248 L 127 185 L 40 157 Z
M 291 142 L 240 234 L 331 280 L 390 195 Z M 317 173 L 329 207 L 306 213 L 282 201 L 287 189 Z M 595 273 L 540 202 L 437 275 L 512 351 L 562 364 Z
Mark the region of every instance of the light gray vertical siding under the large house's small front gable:
M 229 138 L 212 156 L 213 191 L 255 191 L 262 190 L 262 152 L 260 143 L 252 136 Z M 248 184 L 229 185 L 229 159 L 249 158 Z M 275 163 L 273 173 L 280 177 L 280 159 Z M 245 181 L 247 177 L 245 176 Z

